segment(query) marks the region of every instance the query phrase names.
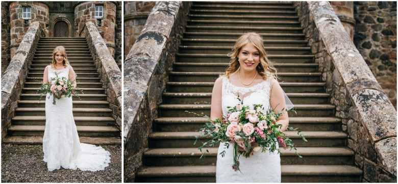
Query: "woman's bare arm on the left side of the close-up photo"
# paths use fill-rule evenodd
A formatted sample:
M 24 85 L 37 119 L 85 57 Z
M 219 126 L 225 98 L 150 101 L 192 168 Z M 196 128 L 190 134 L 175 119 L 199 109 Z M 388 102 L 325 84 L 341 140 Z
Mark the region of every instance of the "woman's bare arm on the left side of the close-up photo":
M 221 77 L 218 77 L 214 82 L 213 92 L 211 93 L 211 109 L 210 117 L 212 120 L 219 118 L 222 120 L 222 109 L 221 109 Z

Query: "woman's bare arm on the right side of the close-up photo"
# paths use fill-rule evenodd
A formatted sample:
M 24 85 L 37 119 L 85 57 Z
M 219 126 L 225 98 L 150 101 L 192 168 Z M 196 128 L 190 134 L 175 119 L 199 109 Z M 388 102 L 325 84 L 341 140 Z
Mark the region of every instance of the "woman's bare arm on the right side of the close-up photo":
M 281 127 L 281 132 L 285 131 L 287 129 L 287 126 L 289 125 L 289 116 L 286 112 L 286 102 L 285 102 L 285 96 L 283 95 L 283 90 L 281 86 L 279 85 L 278 81 L 275 80 L 275 78 L 271 79 L 271 108 L 275 112 L 279 112 L 282 109 L 283 110 L 283 116 L 279 117 L 279 120 L 277 121 L 278 124 L 282 124 Z

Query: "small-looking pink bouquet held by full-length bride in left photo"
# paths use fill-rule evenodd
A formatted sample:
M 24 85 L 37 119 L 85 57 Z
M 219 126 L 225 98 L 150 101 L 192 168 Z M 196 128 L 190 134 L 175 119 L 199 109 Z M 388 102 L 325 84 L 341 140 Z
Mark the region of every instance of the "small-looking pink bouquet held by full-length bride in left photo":
M 81 99 L 77 91 L 80 91 L 82 94 L 84 94 L 83 90 L 79 88 L 73 89 L 72 84 L 74 81 L 68 81 L 66 77 L 58 77 L 58 75 L 56 75 L 56 77 L 51 78 L 50 81 L 51 83 L 44 83 L 40 86 L 40 89 L 37 90 L 41 91 L 39 101 L 41 100 L 41 97 L 47 93 L 53 94 L 53 104 L 56 104 L 55 99 L 61 99 L 62 95 L 68 98 L 77 96 L 79 99 Z

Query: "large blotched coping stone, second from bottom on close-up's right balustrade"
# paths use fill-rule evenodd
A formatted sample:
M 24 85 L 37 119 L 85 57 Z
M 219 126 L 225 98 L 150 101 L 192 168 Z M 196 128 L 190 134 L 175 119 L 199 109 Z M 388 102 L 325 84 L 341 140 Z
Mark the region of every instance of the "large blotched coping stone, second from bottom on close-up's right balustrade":
M 369 131 L 371 142 L 396 136 L 396 111 L 380 91 L 364 89 L 352 95 L 359 117 Z

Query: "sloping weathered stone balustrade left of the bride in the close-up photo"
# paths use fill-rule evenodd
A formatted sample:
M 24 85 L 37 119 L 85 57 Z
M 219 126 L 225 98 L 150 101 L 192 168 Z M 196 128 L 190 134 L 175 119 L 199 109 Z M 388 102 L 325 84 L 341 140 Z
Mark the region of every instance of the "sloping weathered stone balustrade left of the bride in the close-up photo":
M 168 72 L 176 59 L 190 2 L 157 2 L 124 63 L 124 181 L 134 182 L 158 117 Z

